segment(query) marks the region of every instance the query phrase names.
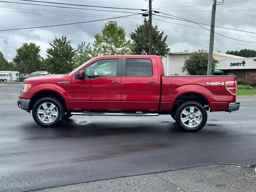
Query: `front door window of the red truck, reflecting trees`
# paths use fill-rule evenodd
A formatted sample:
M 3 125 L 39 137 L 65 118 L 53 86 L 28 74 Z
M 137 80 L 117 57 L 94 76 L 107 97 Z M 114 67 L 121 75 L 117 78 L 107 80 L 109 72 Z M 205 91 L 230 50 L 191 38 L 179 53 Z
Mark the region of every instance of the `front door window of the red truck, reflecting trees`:
M 88 78 L 116 77 L 117 59 L 99 60 L 86 67 L 85 74 Z

